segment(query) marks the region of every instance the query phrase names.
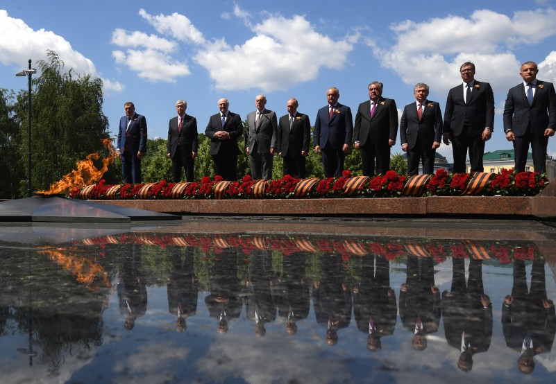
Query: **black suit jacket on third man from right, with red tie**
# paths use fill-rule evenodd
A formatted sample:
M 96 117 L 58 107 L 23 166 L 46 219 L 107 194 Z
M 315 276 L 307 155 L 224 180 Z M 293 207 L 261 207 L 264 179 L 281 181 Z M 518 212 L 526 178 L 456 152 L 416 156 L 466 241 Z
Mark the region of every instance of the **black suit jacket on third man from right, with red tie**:
M 407 144 L 410 149 L 415 147 L 417 136 L 422 144 L 432 148 L 434 141 L 442 139 L 442 114 L 440 105 L 436 101 L 426 100 L 422 105 L 423 114 L 421 121 L 417 116 L 417 105 L 411 103 L 405 105 L 400 121 L 401 144 Z

